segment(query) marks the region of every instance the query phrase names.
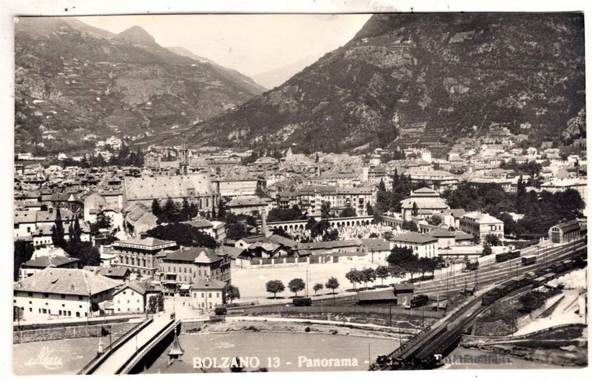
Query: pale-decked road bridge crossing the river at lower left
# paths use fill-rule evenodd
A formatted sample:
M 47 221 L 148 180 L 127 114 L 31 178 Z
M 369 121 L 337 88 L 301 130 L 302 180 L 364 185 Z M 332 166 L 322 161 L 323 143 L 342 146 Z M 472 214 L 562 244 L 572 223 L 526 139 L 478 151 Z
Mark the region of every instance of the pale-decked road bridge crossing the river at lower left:
M 170 314 L 149 318 L 107 347 L 78 374 L 139 373 L 173 341 L 180 320 Z

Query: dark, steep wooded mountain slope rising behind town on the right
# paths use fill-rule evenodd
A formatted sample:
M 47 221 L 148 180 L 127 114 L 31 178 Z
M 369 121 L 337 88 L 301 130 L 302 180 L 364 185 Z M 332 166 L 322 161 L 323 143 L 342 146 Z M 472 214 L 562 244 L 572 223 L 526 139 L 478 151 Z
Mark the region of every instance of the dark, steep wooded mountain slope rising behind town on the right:
M 421 143 L 440 154 L 500 127 L 558 139 L 585 106 L 583 31 L 581 13 L 375 14 L 192 139 L 332 152 Z

